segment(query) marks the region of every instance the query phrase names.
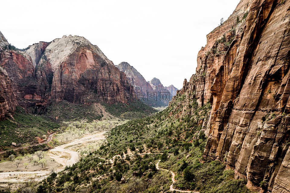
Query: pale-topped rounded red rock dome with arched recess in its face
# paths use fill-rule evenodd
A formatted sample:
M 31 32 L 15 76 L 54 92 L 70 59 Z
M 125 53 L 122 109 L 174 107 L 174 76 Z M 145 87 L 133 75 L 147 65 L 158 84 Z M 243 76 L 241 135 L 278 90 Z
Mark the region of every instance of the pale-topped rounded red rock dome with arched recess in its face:
M 101 50 L 79 36 L 53 40 L 45 52 L 53 71 L 52 98 L 72 103 L 127 103 L 133 87 Z

